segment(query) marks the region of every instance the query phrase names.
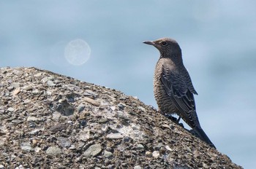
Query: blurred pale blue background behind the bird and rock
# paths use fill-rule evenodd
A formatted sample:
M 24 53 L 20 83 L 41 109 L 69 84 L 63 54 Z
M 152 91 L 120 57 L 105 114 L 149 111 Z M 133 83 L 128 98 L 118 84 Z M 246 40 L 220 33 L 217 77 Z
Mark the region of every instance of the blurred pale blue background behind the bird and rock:
M 238 0 L 0 1 L 0 67 L 48 69 L 157 107 L 159 52 L 142 42 L 171 37 L 199 93 L 203 129 L 219 152 L 255 168 L 255 7 Z M 91 49 L 80 66 L 64 57 L 75 39 Z

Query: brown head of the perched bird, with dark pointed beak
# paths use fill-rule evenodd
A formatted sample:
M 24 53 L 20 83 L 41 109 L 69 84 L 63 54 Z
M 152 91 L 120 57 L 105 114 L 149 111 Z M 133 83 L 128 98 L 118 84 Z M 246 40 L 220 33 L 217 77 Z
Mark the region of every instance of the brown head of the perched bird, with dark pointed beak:
M 156 47 L 161 54 L 161 58 L 181 57 L 181 48 L 174 39 L 161 38 L 155 41 L 146 41 L 143 43 Z

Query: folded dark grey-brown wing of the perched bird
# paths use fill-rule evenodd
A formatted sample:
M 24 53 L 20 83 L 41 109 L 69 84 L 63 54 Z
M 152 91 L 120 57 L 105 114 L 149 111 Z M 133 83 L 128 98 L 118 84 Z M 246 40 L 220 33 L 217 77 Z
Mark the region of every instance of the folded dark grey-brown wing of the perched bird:
M 187 74 L 189 76 L 189 74 Z M 193 91 L 189 90 L 187 76 L 178 76 L 178 74 L 162 69 L 161 82 L 165 88 L 165 92 L 181 112 L 181 117 L 191 127 L 195 127 L 198 122 L 195 112 L 195 99 Z M 199 125 L 199 122 L 198 122 Z

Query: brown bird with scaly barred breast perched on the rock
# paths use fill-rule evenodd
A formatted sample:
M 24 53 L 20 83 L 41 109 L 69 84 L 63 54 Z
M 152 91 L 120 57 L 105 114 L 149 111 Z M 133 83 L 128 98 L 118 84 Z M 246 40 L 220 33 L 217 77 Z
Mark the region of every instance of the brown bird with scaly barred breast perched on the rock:
M 168 116 L 177 114 L 179 117 L 176 122 L 183 119 L 201 140 L 216 149 L 200 126 L 194 98 L 197 92 L 184 66 L 178 42 L 161 38 L 143 43 L 156 47 L 160 52 L 154 71 L 154 98 L 160 113 Z

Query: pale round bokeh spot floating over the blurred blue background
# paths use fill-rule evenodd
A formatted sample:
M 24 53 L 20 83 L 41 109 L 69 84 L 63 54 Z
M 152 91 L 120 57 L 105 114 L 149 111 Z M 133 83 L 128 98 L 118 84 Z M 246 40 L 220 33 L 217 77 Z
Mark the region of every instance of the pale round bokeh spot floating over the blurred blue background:
M 83 39 L 75 39 L 70 41 L 64 50 L 66 60 L 75 66 L 83 65 L 89 60 L 91 48 Z

